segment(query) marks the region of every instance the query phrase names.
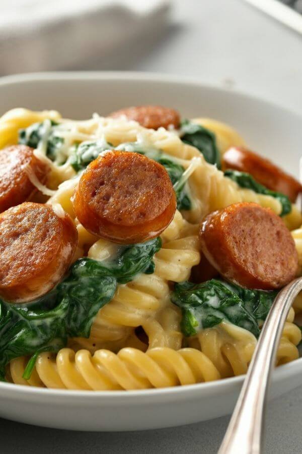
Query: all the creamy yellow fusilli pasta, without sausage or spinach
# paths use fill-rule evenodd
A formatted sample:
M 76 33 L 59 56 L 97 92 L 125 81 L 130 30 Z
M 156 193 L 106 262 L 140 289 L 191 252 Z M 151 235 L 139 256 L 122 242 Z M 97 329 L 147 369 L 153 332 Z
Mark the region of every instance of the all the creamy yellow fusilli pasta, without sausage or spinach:
M 87 121 L 72 121 L 61 119 L 60 114 L 52 110 L 13 109 L 0 118 L 0 148 L 17 143 L 21 128 L 40 122 L 50 127 L 53 123 L 49 120 L 59 125 L 60 157 L 64 157 L 64 162 L 50 160 L 45 146 L 38 147 L 34 153 L 47 161 L 50 168 L 45 192 L 49 198 L 45 198 L 45 202 L 60 205 L 77 228 L 79 241 L 73 262 L 88 256 L 109 263 L 120 248 L 88 232 L 75 217 L 71 199 L 82 170 L 78 173 L 74 170 L 77 167 L 71 165 L 71 158 L 82 142 L 102 141 L 105 148 L 110 149 L 136 142 L 171 157 L 172 162 L 183 167 L 181 172 L 186 177 L 191 207 L 177 210 L 162 233 L 162 247 L 153 258 L 154 272 L 137 274 L 131 281 L 113 287 L 111 296 L 116 288 L 114 296 L 94 317 L 89 338 L 70 337 L 67 348 L 57 354 L 40 353 L 29 379 L 23 377 L 28 358 L 13 359 L 8 366 L 8 380 L 50 388 L 130 390 L 186 385 L 246 373 L 257 343 L 254 334 L 222 321 L 185 337 L 181 329 L 182 312 L 172 304 L 171 291 L 175 283 L 189 280 L 192 267 L 200 262 L 198 229 L 204 216 L 237 202 L 255 202 L 279 215 L 282 211 L 279 200 L 243 189 L 225 177 L 215 165 L 205 161 L 197 148 L 182 142 L 180 131 L 145 129 L 123 118 L 102 118 L 95 114 Z M 230 146 L 244 145 L 243 139 L 228 125 L 206 118 L 193 122 L 214 133 L 220 153 Z M 40 196 L 35 197 L 39 201 Z M 78 216 L 80 218 L 80 214 Z M 292 205 L 283 220 L 292 231 L 300 273 L 302 215 Z M 294 309 L 302 310 L 300 295 Z M 292 309 L 283 329 L 277 364 L 298 357 L 296 346 L 301 340 L 301 331 L 293 319 Z M 81 335 L 85 334 L 81 332 Z

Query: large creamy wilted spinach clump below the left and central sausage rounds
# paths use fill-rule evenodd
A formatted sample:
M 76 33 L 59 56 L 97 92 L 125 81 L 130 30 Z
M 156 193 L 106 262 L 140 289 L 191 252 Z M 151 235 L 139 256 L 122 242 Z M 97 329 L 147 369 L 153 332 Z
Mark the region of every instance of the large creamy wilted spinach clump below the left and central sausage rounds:
M 30 304 L 0 300 L 0 378 L 13 358 L 33 355 L 25 370 L 29 378 L 41 352 L 57 352 L 68 337 L 89 337 L 95 315 L 112 299 L 118 282 L 154 271 L 160 238 L 122 247 L 115 260 L 77 260 L 54 290 Z

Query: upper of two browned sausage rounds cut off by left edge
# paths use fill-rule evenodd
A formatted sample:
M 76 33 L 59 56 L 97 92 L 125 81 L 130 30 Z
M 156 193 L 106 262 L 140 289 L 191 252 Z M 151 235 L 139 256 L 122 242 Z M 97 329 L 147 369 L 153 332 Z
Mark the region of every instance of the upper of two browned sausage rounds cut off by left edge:
M 28 177 L 33 172 L 44 183 L 49 168 L 26 145 L 13 145 L 0 150 L 0 212 L 19 205 L 36 190 Z

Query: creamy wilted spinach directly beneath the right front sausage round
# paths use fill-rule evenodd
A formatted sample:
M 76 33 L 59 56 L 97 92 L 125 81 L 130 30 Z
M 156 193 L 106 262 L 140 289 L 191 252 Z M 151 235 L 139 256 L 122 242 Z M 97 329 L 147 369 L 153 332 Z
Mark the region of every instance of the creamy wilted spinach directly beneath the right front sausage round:
M 177 283 L 171 300 L 182 310 L 181 329 L 186 336 L 224 320 L 258 337 L 259 325 L 265 320 L 276 294 L 211 279 L 197 285 L 187 281 Z

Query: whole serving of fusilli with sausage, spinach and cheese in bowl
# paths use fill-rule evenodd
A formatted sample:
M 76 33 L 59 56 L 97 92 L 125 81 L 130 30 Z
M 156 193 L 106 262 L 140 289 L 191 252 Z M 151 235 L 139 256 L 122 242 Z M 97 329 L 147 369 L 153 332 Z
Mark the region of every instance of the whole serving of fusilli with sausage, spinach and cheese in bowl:
M 161 106 L 0 118 L 0 378 L 131 390 L 246 373 L 301 273 L 302 186 Z M 298 358 L 298 296 L 277 364 Z

